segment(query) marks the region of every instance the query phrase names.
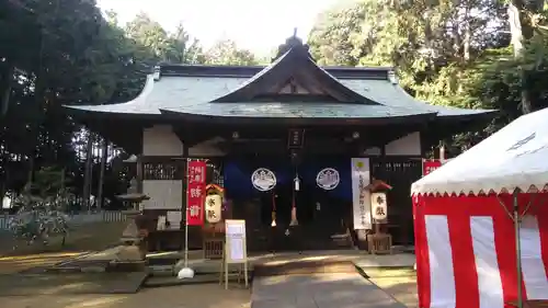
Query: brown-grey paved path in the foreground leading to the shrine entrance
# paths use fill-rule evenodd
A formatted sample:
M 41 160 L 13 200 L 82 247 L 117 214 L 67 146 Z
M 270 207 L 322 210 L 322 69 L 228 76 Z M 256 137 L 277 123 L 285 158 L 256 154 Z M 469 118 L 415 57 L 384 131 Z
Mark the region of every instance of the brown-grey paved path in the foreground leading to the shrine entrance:
M 256 277 L 253 308 L 404 308 L 357 273 Z

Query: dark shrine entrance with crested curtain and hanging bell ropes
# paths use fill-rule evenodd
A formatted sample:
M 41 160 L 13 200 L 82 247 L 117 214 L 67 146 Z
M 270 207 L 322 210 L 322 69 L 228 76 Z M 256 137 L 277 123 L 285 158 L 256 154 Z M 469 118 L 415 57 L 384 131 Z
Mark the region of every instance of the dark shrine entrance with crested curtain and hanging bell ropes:
M 254 225 L 254 235 L 263 232 L 258 238 L 263 238 L 265 244 L 252 243 L 250 248 L 274 251 L 350 248 L 334 242 L 336 236 L 352 229 L 350 158 L 307 158 L 295 168 L 279 157 L 255 157 L 233 159 L 226 166 L 225 185 L 229 197 L 239 199 L 236 207 L 250 204 L 246 207 L 254 214 L 248 214 L 246 219 Z M 265 178 L 274 175 L 275 186 L 262 191 L 269 189 L 271 181 L 263 179 L 248 190 L 243 184 L 250 183 L 249 179 L 258 170 L 266 172 Z M 253 217 L 259 224 L 251 221 Z

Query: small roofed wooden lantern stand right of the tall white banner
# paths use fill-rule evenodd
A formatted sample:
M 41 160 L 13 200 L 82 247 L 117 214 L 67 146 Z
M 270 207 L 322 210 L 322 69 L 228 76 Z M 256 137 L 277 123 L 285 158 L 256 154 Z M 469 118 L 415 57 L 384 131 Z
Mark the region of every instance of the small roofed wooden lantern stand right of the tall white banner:
M 368 247 L 367 250 L 372 254 L 392 253 L 392 236 L 388 232 L 385 232 L 381 229 L 381 225 L 386 225 L 388 223 L 386 195 L 385 198 L 381 201 L 385 203 L 384 207 L 376 207 L 377 210 L 383 210 L 384 213 L 379 213 L 379 215 L 373 213 L 375 210 L 374 204 L 377 202 L 374 201 L 373 198 L 381 198 L 381 194 L 391 189 L 392 186 L 388 185 L 384 181 L 375 179 L 372 181 L 369 185 L 364 187 L 364 190 L 369 191 L 372 195 L 372 220 L 373 220 L 372 223 L 375 225 L 375 231 L 373 235 L 367 235 L 367 247 Z

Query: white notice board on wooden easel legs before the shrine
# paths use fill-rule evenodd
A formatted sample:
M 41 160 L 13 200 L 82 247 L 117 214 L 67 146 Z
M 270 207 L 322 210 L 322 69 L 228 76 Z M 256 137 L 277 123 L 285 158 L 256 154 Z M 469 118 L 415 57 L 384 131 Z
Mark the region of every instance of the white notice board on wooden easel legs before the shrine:
M 238 281 L 240 281 L 241 270 L 243 267 L 243 277 L 246 287 L 248 287 L 248 250 L 246 243 L 246 220 L 243 219 L 227 219 L 225 220 L 226 241 L 222 252 L 222 262 L 219 283 L 225 277 L 225 289 L 228 289 L 228 266 L 238 264 Z

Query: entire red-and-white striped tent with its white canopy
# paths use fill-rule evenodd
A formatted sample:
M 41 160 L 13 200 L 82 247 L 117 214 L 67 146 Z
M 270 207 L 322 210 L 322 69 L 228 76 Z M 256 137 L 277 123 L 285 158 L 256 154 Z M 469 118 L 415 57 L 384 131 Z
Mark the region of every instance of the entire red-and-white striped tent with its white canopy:
M 502 308 L 518 284 L 523 299 L 548 299 L 547 184 L 548 110 L 413 183 L 419 307 Z

